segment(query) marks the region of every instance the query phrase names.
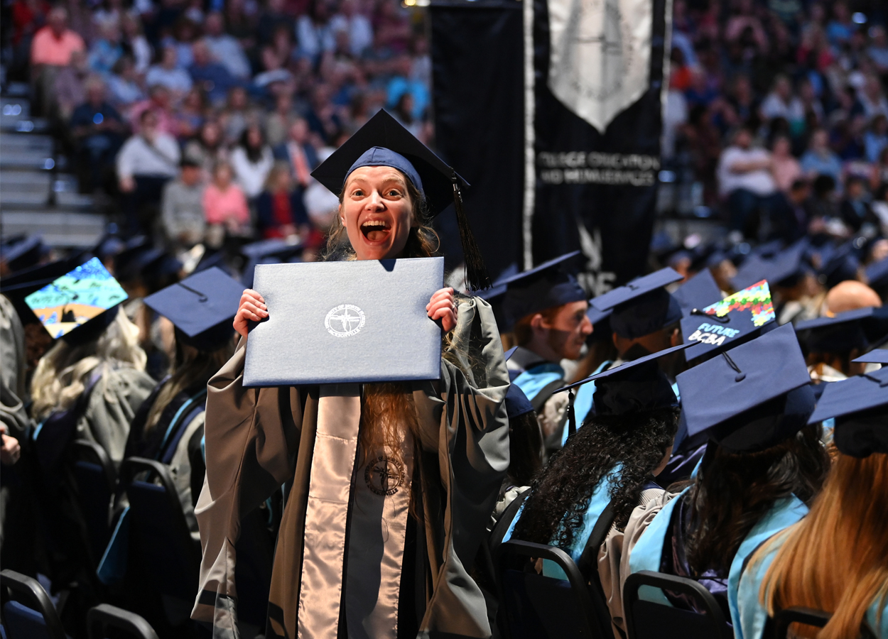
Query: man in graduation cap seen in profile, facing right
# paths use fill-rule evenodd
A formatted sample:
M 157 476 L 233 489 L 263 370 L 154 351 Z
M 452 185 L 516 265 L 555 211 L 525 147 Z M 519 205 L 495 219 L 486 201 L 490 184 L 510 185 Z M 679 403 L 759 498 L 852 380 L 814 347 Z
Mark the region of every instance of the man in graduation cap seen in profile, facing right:
M 534 406 L 547 451 L 560 448 L 566 437 L 567 396 L 552 395 L 567 383 L 560 362 L 579 359 L 592 332 L 586 317 L 589 296 L 565 270 L 567 261 L 578 255 L 567 253 L 495 285 L 505 288 L 503 320 L 518 343 L 507 362 L 509 376 Z

